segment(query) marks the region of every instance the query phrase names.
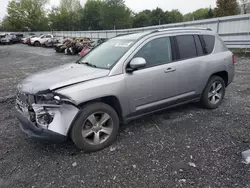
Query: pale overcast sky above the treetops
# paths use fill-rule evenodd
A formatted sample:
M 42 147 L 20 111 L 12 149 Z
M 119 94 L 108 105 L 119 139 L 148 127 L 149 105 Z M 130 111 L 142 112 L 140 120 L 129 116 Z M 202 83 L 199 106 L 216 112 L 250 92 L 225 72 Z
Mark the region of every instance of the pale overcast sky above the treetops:
M 9 0 L 1 0 L 0 18 L 6 14 L 6 7 Z M 58 5 L 60 0 L 50 0 L 51 5 Z M 80 0 L 82 4 L 86 0 Z M 144 9 L 162 8 L 164 11 L 178 9 L 181 13 L 186 14 L 199 8 L 209 6 L 215 7 L 216 0 L 125 0 L 126 5 L 134 12 Z

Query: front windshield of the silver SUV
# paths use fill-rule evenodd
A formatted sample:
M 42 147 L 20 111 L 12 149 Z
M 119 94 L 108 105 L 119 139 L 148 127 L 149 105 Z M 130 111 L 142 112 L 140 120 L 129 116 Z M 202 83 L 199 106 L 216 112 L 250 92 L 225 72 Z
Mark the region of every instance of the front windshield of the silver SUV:
M 110 39 L 78 61 L 96 68 L 110 69 L 128 51 L 134 40 Z

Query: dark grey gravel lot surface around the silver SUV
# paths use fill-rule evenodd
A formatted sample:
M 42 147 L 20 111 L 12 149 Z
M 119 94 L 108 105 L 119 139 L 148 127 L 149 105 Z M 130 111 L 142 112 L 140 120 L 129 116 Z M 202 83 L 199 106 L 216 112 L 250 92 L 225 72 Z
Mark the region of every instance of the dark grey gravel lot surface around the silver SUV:
M 26 138 L 14 117 L 16 84 L 27 75 L 78 59 L 52 49 L 0 46 L 0 187 L 249 188 L 250 59 L 237 58 L 223 105 L 195 104 L 130 122 L 111 147 L 86 154 L 67 141 Z

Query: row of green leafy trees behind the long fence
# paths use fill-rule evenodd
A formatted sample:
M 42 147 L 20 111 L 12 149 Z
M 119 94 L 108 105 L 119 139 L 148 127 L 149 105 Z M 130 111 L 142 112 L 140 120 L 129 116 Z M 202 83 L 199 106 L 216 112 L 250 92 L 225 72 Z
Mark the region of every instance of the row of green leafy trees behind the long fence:
M 245 0 L 241 0 L 245 1 Z M 49 0 L 11 0 L 0 22 L 3 31 L 77 31 L 127 29 L 183 21 L 208 19 L 240 13 L 237 0 L 217 0 L 216 8 L 201 8 L 183 15 L 161 8 L 135 13 L 123 0 L 61 0 L 48 9 Z M 245 13 L 245 12 L 244 12 Z

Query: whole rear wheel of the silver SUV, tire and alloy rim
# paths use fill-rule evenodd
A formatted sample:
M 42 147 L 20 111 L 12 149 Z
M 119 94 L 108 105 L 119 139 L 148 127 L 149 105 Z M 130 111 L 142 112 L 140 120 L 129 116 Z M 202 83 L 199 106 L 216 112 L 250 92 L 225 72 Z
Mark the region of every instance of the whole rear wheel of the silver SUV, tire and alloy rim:
M 218 108 L 225 96 L 226 86 L 224 80 L 219 76 L 212 76 L 202 93 L 200 103 L 204 108 Z

